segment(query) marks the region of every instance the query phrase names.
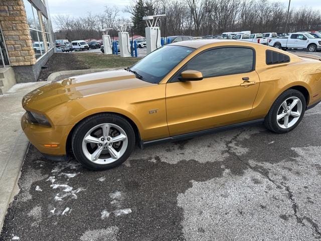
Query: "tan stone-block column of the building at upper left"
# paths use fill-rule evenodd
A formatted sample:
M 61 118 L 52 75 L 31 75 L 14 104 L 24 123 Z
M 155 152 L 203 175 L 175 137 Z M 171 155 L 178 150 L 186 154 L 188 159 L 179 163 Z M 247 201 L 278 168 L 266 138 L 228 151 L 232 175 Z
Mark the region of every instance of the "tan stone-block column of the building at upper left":
M 35 52 L 22 0 L 0 0 L 0 24 L 5 37 L 11 66 L 36 63 Z

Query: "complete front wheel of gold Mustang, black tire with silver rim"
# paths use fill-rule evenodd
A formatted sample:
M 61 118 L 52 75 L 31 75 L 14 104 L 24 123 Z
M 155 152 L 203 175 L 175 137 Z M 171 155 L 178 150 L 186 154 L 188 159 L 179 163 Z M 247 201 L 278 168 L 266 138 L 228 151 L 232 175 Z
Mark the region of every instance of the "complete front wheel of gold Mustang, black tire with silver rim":
M 108 136 L 107 140 L 102 139 L 102 128 L 109 130 L 109 134 L 105 135 Z M 115 138 L 123 140 L 113 142 Z M 81 121 L 72 135 L 71 143 L 74 156 L 84 167 L 96 171 L 107 170 L 127 160 L 135 146 L 135 134 L 122 116 L 101 113 Z M 114 153 L 114 157 L 111 153 Z

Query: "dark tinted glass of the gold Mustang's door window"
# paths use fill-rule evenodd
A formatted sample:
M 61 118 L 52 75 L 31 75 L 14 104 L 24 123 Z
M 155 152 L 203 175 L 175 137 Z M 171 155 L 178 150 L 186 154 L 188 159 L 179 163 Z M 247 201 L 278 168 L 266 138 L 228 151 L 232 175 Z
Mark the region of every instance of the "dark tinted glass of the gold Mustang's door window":
M 190 60 L 184 70 L 197 70 L 203 77 L 251 72 L 254 51 L 250 48 L 219 48 L 208 50 Z

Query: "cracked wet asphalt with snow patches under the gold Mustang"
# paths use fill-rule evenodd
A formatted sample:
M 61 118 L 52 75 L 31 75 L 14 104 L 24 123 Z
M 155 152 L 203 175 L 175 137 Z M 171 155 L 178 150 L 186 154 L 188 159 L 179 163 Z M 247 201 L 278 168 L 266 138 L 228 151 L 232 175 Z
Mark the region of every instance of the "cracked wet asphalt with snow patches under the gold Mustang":
M 93 172 L 30 147 L 0 240 L 319 240 L 321 104 L 263 125 L 135 149 Z

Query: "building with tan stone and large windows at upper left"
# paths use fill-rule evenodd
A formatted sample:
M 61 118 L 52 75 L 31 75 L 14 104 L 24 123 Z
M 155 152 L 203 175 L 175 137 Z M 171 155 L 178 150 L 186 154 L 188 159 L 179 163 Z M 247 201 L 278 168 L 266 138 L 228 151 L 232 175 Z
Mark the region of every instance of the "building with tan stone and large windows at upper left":
M 47 0 L 1 0 L 0 47 L 0 94 L 37 81 L 55 47 Z

